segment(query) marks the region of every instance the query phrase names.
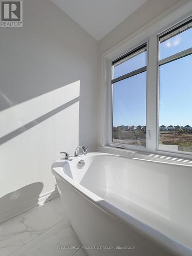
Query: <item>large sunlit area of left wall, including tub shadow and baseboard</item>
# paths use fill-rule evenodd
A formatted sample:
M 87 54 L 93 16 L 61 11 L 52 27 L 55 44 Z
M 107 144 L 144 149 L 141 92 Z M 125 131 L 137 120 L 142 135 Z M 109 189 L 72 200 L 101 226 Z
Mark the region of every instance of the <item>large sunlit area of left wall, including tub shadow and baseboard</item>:
M 0 199 L 0 222 L 38 204 L 44 204 L 59 195 L 56 185 L 53 191 L 46 189 L 46 193 L 42 194 L 41 191 L 44 185 L 47 185 L 46 180 L 49 180 L 50 176 L 52 178 L 50 188 L 55 182 L 51 172 L 48 173 L 47 170 L 50 170 L 54 159 L 58 158 L 57 154 L 61 151 L 61 146 L 69 142 L 72 147 L 78 144 L 79 91 L 80 81 L 78 80 L 34 99 L 12 105 L 9 109 L 0 112 L 2 120 L 0 121 L 2 124 L 0 169 L 9 169 L 9 176 L 15 180 L 12 185 L 9 185 L 8 181 L 2 183 L 1 194 L 5 195 L 7 190 L 20 187 Z M 54 137 L 50 140 L 49 135 L 53 132 Z M 73 138 L 69 137 L 70 132 Z M 20 136 L 23 136 L 22 140 Z M 12 156 L 12 161 L 8 154 L 9 143 L 12 150 L 16 152 Z M 29 175 L 31 173 L 33 176 Z M 8 176 L 2 173 L 2 180 L 6 179 Z M 39 180 L 39 182 L 31 183 L 34 180 Z M 26 183 L 31 184 L 24 186 Z

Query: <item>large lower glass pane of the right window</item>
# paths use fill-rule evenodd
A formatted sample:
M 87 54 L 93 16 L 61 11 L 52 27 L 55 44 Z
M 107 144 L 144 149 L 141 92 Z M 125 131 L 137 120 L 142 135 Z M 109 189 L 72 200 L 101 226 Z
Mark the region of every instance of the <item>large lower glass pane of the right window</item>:
M 192 152 L 192 55 L 160 66 L 159 149 Z

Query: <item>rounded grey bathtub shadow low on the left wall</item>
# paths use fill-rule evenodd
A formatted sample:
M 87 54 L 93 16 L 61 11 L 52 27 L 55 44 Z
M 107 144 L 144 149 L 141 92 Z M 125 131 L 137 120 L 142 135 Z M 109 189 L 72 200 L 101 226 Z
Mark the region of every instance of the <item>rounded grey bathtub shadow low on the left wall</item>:
M 35 182 L 19 188 L 0 198 L 0 222 L 38 205 L 39 195 L 44 185 Z

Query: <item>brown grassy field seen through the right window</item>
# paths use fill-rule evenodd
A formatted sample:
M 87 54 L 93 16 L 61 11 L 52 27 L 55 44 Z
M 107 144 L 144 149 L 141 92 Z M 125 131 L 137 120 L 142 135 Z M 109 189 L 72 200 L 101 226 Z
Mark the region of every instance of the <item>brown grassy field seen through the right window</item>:
M 160 132 L 159 144 L 177 145 L 179 151 L 192 152 L 192 132 Z

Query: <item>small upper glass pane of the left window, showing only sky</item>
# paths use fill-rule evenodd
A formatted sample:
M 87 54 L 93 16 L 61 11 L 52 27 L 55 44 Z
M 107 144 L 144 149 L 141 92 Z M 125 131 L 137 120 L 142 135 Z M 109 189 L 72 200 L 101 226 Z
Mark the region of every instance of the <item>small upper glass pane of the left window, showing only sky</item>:
M 123 60 L 117 62 L 113 66 L 113 78 L 125 75 L 137 69 L 146 66 L 146 50 L 142 49 L 141 51 L 124 58 Z

